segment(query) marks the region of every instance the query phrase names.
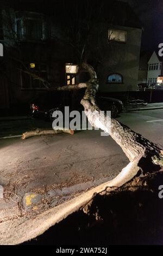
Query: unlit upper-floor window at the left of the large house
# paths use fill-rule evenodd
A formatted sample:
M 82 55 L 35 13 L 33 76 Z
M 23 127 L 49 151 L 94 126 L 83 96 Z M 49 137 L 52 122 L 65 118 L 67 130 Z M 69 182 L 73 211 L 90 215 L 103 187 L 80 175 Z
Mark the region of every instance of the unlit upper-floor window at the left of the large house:
M 37 13 L 16 14 L 16 35 L 18 40 L 45 40 L 48 29 L 45 17 Z

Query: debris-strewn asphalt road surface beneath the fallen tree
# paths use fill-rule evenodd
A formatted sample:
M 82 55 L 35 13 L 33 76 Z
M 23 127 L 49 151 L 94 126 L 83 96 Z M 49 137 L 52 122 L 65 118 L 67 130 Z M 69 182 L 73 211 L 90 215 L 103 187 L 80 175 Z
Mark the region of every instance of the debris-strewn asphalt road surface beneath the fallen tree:
M 123 113 L 117 120 L 163 147 L 163 110 Z M 1 122 L 0 134 L 18 135 L 37 127 L 50 128 L 51 123 Z M 21 200 L 24 193 L 35 192 L 55 197 L 57 205 L 111 180 L 127 164 L 120 146 L 97 130 L 0 140 L 0 183 Z

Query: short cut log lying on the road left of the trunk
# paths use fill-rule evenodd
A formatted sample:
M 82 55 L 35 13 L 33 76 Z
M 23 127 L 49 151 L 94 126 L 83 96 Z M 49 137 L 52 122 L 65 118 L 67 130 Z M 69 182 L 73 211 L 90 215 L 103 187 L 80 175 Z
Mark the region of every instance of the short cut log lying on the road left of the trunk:
M 58 133 L 68 133 L 68 134 L 74 134 L 73 130 L 70 129 L 61 129 L 58 130 L 42 130 L 42 129 L 36 129 L 36 130 L 30 130 L 29 132 L 22 134 L 22 140 L 33 137 L 33 136 L 40 136 L 40 135 L 55 135 Z

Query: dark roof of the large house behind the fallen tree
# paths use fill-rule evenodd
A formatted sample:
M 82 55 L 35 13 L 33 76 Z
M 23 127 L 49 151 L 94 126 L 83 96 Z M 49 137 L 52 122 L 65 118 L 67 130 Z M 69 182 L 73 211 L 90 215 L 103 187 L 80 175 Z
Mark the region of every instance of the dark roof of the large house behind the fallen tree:
M 10 6 L 15 10 L 36 11 L 47 13 L 53 17 L 64 17 L 66 20 L 70 15 L 78 20 L 90 19 L 106 21 L 112 25 L 142 28 L 134 10 L 126 2 L 114 0 L 8 0 Z M 26 4 L 27 3 L 27 4 Z

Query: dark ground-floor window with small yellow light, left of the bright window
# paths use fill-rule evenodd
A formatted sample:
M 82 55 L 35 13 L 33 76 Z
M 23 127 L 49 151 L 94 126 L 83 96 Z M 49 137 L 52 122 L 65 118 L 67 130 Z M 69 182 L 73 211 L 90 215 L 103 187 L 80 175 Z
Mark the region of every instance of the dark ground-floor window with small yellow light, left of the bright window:
M 40 78 L 48 80 L 47 75 L 47 65 L 46 64 L 38 64 L 38 63 L 29 63 L 28 70 L 33 75 L 39 76 Z M 21 72 L 21 85 L 22 88 L 29 88 L 29 89 L 39 89 L 45 88 L 42 81 L 39 79 L 35 79 L 33 75 L 27 74 L 26 72 Z

